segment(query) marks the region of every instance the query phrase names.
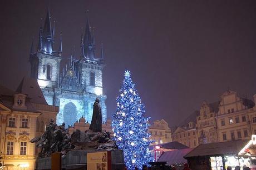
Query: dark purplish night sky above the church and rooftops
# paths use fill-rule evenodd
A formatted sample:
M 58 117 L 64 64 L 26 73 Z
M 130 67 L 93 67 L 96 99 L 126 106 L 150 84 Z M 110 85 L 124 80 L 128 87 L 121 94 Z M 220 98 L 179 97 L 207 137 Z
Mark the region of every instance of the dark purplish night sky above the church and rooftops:
M 30 75 L 31 39 L 37 44 L 49 2 L 56 33 L 63 34 L 62 66 L 74 46 L 78 58 L 90 10 L 97 54 L 104 43 L 108 117 L 125 69 L 146 116 L 164 118 L 170 126 L 202 101 L 217 101 L 228 87 L 242 97 L 256 93 L 256 1 L 1 1 L 1 84 L 16 89 Z

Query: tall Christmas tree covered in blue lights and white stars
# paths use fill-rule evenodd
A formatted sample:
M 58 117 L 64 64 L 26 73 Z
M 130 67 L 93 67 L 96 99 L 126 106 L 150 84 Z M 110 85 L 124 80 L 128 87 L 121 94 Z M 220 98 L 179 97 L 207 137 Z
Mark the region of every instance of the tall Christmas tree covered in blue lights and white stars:
M 124 150 L 125 164 L 129 170 L 139 169 L 142 165 L 153 161 L 149 151 L 152 143 L 147 133 L 150 126 L 149 118 L 145 118 L 144 104 L 135 84 L 132 83 L 131 74 L 125 71 L 121 94 L 117 97 L 116 113 L 112 116 L 114 139 L 119 149 Z

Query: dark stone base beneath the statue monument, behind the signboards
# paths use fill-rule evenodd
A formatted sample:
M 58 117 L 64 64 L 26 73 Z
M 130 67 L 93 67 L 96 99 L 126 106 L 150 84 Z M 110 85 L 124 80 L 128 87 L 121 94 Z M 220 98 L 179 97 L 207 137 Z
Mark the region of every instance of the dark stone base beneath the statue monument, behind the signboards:
M 87 153 L 97 152 L 88 150 L 69 151 L 65 157 L 61 159 L 61 169 L 87 169 Z M 102 152 L 102 151 L 99 151 Z M 122 150 L 110 151 L 111 152 L 111 170 L 123 170 L 125 168 L 124 152 Z M 36 169 L 37 170 L 50 170 L 52 167 L 51 157 L 38 158 Z M 110 170 L 110 169 L 108 169 Z

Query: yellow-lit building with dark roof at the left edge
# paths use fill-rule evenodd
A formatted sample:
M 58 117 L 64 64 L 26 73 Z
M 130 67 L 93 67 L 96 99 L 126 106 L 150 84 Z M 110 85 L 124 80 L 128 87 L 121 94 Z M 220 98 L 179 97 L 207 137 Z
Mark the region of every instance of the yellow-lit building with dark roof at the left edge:
M 26 83 L 23 79 L 16 92 L 0 86 L 1 163 L 11 170 L 35 169 L 37 149 L 29 141 L 40 136 L 58 112 L 58 107 L 46 103 L 36 79 L 24 87 Z M 35 97 L 31 92 L 37 89 L 40 93 Z

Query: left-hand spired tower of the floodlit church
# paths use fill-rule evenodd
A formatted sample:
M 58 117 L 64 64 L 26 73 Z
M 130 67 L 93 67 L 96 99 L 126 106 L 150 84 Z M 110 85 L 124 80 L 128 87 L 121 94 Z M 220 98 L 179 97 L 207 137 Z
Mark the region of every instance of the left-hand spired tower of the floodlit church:
M 62 59 L 62 39 L 60 47 L 54 50 L 55 23 L 51 27 L 50 9 L 48 8 L 45 24 L 39 31 L 37 51 L 31 53 L 31 77 L 36 78 L 48 104 L 53 105 L 53 88 L 58 86 L 60 62 Z

